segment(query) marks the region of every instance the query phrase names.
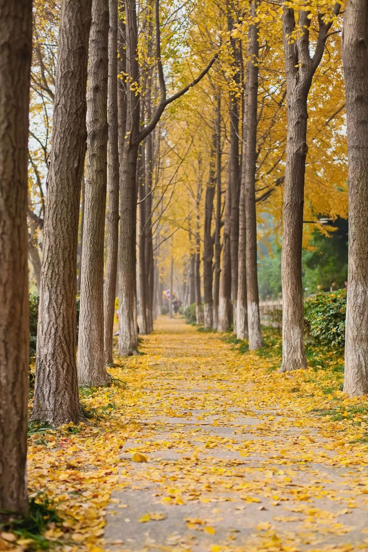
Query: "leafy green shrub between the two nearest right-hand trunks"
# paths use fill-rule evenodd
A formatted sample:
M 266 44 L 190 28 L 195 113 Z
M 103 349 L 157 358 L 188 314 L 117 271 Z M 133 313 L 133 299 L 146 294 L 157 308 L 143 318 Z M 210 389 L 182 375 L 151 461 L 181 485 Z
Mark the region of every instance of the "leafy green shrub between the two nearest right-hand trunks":
M 306 331 L 323 345 L 345 344 L 346 290 L 318 293 L 306 300 Z

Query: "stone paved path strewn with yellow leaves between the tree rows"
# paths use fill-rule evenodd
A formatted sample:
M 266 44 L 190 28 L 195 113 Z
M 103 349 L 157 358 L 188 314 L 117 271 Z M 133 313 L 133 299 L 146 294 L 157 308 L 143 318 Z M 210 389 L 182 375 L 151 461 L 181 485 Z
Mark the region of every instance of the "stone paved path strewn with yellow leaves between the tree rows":
M 182 320 L 162 318 L 143 351 L 106 550 L 368 550 L 368 453 L 308 412 L 312 384 L 292 395 L 306 375 Z

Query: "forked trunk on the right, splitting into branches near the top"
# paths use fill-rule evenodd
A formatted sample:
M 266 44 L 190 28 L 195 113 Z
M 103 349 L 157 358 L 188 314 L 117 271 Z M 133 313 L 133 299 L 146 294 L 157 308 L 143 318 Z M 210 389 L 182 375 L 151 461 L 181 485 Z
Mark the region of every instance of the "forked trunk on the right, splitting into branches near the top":
M 336 3 L 333 14 L 340 4 Z M 286 98 L 287 98 L 287 145 L 284 184 L 284 226 L 281 254 L 282 283 L 282 364 L 280 373 L 306 368 L 303 328 L 302 290 L 302 233 L 305 164 L 307 146 L 307 99 L 312 78 L 322 59 L 328 30 L 333 23 L 330 18 L 318 15 L 317 43 L 310 55 L 309 29 L 311 19 L 308 10 L 298 12 L 298 28 L 302 29 L 295 41 L 289 36 L 295 30 L 294 10 L 284 8 L 282 35 L 285 52 Z

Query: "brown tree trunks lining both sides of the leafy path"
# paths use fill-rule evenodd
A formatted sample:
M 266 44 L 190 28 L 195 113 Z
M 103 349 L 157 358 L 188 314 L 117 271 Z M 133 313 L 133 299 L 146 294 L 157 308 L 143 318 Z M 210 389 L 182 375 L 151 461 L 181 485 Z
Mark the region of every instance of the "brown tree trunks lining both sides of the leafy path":
M 233 82 L 242 94 L 226 99 L 214 89 L 215 112 L 205 187 L 204 291 L 200 285 L 198 207 L 202 181 L 195 190 L 196 213 L 190 239 L 195 248 L 188 267 L 188 302 L 196 303 L 198 321 L 218 331 L 230 328 L 262 347 L 257 283 L 256 197 L 257 124 L 259 120 L 259 18 L 261 0 L 251 0 L 240 14 L 227 5 L 228 48 Z M 303 343 L 301 250 L 307 157 L 307 99 L 339 13 L 318 15 L 314 53 L 310 47 L 310 11 L 284 8 L 287 145 L 284 181 L 282 291 L 283 358 L 280 371 L 306 367 Z M 362 0 L 348 1 L 344 13 L 342 55 L 346 86 L 349 158 L 349 276 L 346 313 L 345 383 L 351 396 L 368 392 L 368 14 Z M 28 254 L 33 236 L 27 216 L 42 224 L 40 306 L 35 395 L 31 420 L 58 426 L 81 419 L 78 382 L 103 385 L 112 360 L 116 280 L 119 286 L 121 355 L 137 348 L 136 240 L 140 243 L 140 324 L 153 327 L 157 274 L 152 235 L 152 188 L 155 129 L 166 107 L 210 71 L 221 70 L 218 51 L 189 84 L 169 95 L 161 59 L 159 0 L 147 3 L 148 49 L 154 59 L 142 82 L 138 65 L 136 3 L 126 0 L 62 0 L 52 148 L 42 221 L 28 204 L 28 114 L 31 86 L 32 2 L 0 0 L 0 509 L 28 507 L 26 429 L 28 419 Z M 247 15 L 244 45 L 233 33 Z M 302 31 L 295 34 L 295 30 Z M 294 36 L 294 40 L 290 37 Z M 243 51 L 244 50 L 244 51 Z M 72 70 L 71 70 L 72 67 Z M 217 68 L 217 69 L 216 69 Z M 119 77 L 119 78 L 118 78 Z M 88 82 L 88 89 L 87 89 Z M 225 209 L 221 201 L 221 103 L 228 102 L 228 158 Z M 84 176 L 84 163 L 86 174 Z M 196 168 L 201 174 L 199 159 Z M 206 160 L 207 162 L 207 160 Z M 109 170 L 108 170 L 109 169 Z M 85 182 L 82 189 L 83 176 Z M 76 291 L 78 224 L 82 204 L 81 314 L 78 358 Z M 108 190 L 107 259 L 104 285 L 104 228 Z M 268 194 L 268 195 L 267 195 Z M 119 199 L 120 198 L 120 199 Z M 214 205 L 214 201 L 216 202 Z M 120 203 L 119 203 L 120 201 Z M 137 236 L 137 206 L 140 226 Z M 214 225 L 212 225 L 214 217 Z M 120 226 L 120 231 L 119 230 Z M 215 227 L 211 235 L 212 226 Z M 221 231 L 222 228 L 222 231 Z M 222 240 L 221 240 L 222 236 Z M 221 257 L 222 252 L 222 257 Z M 173 272 L 173 271 L 172 271 Z M 170 284 L 171 291 L 173 283 Z M 14 438 L 17 436 L 17 438 Z

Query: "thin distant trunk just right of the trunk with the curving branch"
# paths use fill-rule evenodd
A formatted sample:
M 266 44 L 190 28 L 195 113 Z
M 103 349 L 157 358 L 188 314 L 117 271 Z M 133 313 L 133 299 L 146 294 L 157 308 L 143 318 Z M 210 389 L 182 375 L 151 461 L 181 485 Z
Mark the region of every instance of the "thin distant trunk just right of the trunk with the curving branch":
M 139 170 L 138 170 L 138 197 L 140 200 L 139 205 L 139 285 L 140 285 L 140 316 L 139 316 L 139 330 L 142 335 L 147 335 L 148 325 L 147 325 L 147 282 L 146 282 L 146 189 L 145 189 L 145 145 L 140 145 L 141 156 L 138 161 Z

